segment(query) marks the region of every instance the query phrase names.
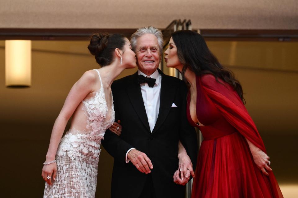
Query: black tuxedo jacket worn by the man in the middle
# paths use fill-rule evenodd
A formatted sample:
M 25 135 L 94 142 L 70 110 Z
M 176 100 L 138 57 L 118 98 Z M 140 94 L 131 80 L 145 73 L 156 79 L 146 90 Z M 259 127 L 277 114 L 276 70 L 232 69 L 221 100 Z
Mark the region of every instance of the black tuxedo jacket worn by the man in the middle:
M 156 197 L 185 196 L 185 187 L 173 182 L 178 169 L 178 140 L 181 140 L 187 154 L 196 167 L 196 132 L 187 121 L 186 93 L 183 81 L 161 73 L 160 109 L 156 125 L 151 133 L 142 98 L 141 87 L 137 84 L 138 72 L 114 81 L 115 120 L 120 120 L 122 133 L 115 135 L 107 130 L 102 144 L 115 158 L 111 197 L 138 198 L 148 177 L 131 162 L 125 162 L 130 148 L 146 153 L 153 169 L 151 176 Z M 177 107 L 171 107 L 173 102 Z

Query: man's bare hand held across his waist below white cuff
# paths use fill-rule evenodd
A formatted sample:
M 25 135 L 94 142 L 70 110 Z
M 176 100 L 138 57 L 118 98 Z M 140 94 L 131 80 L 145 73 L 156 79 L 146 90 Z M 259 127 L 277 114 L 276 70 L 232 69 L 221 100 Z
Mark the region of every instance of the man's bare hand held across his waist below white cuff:
M 133 163 L 137 169 L 145 174 L 151 173 L 150 169 L 153 169 L 151 160 L 145 153 L 138 151 L 137 149 L 132 149 L 128 152 L 127 158 Z

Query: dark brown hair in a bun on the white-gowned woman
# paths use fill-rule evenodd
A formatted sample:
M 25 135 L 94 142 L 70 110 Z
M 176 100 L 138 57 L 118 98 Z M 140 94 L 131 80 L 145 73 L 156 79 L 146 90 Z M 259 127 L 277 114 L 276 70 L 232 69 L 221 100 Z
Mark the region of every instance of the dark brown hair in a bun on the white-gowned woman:
M 103 66 L 113 62 L 116 48 L 124 49 L 125 37 L 121 34 L 95 33 L 92 35 L 88 49 L 95 56 L 96 62 Z

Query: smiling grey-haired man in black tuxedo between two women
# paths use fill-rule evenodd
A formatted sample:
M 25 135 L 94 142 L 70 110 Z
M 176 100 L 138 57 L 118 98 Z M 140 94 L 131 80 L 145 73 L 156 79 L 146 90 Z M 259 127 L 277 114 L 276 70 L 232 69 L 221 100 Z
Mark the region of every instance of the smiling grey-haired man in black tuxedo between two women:
M 158 69 L 160 30 L 139 28 L 131 44 L 138 71 L 111 86 L 121 135 L 107 130 L 102 142 L 115 158 L 111 197 L 184 198 L 197 156 L 196 132 L 186 117 L 187 87 Z M 182 167 L 187 170 L 177 174 Z

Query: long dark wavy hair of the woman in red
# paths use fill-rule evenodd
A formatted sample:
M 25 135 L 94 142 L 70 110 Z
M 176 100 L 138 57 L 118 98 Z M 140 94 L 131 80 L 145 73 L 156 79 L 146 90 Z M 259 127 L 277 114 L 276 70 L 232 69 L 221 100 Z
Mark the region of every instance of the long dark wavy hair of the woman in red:
M 245 104 L 241 84 L 235 79 L 235 75 L 231 70 L 219 63 L 200 34 L 191 30 L 179 30 L 172 34 L 172 38 L 177 47 L 178 59 L 183 64 L 181 74 L 184 81 L 186 81 L 184 77 L 186 69 L 199 76 L 212 74 L 216 81 L 220 78 L 232 85 L 243 104 Z

